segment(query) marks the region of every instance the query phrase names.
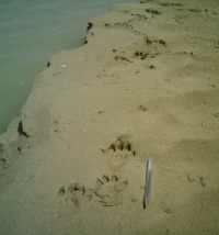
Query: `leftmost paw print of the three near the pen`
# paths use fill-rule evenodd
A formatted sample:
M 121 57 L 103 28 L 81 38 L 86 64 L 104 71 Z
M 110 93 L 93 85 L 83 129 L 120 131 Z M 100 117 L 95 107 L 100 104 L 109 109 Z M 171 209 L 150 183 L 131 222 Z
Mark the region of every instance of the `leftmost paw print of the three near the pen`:
M 62 197 L 66 202 L 71 202 L 76 208 L 80 208 L 83 202 L 92 199 L 90 190 L 79 182 L 70 183 L 68 187 L 61 186 L 58 195 Z

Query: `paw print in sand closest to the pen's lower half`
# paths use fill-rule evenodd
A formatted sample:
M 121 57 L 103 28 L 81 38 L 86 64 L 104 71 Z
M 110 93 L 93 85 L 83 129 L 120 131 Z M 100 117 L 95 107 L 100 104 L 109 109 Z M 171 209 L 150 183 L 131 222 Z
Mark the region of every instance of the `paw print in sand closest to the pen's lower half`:
M 103 206 L 117 206 L 123 203 L 127 186 L 127 179 L 120 179 L 116 175 L 103 175 L 96 179 L 94 195 Z

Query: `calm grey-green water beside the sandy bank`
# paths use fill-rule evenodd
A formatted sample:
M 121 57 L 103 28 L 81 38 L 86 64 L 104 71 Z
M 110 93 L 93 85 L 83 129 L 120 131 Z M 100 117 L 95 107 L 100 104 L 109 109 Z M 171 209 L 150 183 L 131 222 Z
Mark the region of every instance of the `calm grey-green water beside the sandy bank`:
M 90 18 L 131 0 L 0 0 L 0 133 L 51 54 L 79 45 Z

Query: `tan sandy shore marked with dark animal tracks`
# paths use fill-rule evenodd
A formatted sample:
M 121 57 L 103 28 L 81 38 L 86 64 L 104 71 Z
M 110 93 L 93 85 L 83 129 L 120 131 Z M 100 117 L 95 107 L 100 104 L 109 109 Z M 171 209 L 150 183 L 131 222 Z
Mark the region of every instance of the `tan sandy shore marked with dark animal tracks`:
M 0 234 L 218 234 L 218 22 L 217 1 L 142 0 L 55 55 L 0 139 Z

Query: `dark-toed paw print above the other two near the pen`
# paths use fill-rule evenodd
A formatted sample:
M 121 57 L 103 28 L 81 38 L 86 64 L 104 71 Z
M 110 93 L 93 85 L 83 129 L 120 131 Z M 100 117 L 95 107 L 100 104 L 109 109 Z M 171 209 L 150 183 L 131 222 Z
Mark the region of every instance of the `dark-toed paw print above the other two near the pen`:
M 108 165 L 112 170 L 120 169 L 129 158 L 136 156 L 131 142 L 125 135 L 117 137 L 106 149 L 102 149 L 102 153 L 108 157 Z

